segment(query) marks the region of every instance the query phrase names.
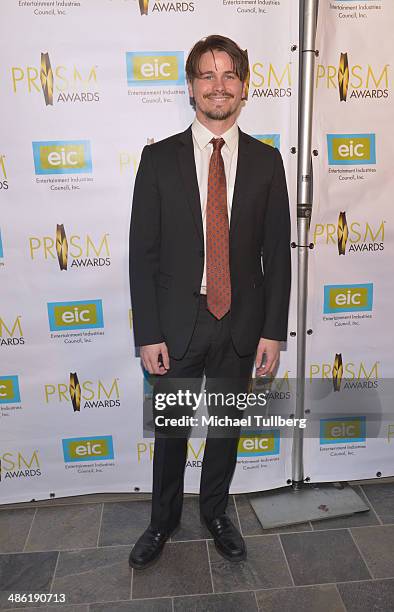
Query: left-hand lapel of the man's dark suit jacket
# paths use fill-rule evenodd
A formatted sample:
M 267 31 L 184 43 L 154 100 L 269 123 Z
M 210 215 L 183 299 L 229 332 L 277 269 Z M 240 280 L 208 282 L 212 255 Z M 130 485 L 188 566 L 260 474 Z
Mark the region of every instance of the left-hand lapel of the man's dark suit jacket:
M 196 224 L 198 235 L 202 243 L 204 243 L 200 191 L 198 188 L 196 163 L 194 160 L 193 137 L 190 127 L 179 135 L 178 143 L 178 162 L 184 183 L 185 193 L 187 195 L 187 200 Z

